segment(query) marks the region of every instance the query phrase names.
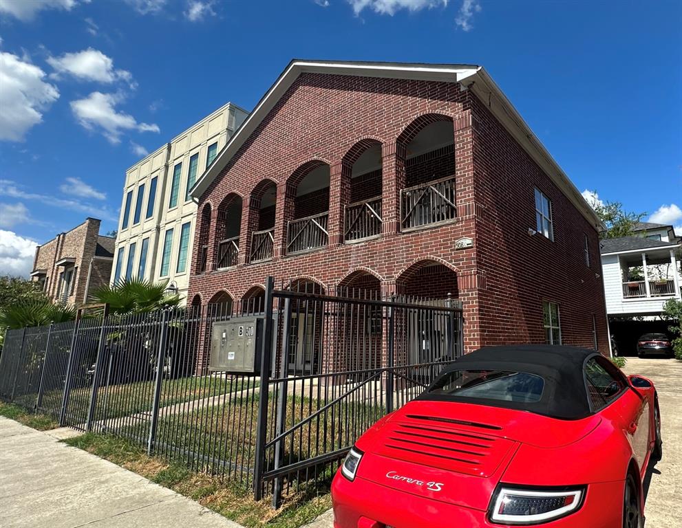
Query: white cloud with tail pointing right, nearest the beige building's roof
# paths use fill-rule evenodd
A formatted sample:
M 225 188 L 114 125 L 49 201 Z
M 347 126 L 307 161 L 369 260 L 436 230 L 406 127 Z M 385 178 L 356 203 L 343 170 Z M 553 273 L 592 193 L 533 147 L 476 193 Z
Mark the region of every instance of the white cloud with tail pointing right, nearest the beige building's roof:
M 71 102 L 78 123 L 87 130 L 99 130 L 113 144 L 120 143 L 124 131 L 160 132 L 158 125 L 138 123 L 129 113 L 116 111 L 120 96 L 94 91 L 85 99 Z

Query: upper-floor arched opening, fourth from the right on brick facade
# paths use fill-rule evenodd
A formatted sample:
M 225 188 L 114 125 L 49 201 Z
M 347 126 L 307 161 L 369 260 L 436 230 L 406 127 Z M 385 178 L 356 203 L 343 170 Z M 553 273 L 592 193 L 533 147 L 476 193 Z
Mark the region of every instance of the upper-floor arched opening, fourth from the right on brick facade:
M 249 200 L 250 262 L 268 261 L 273 258 L 276 207 L 277 184 L 269 179 L 261 181 L 251 192 Z

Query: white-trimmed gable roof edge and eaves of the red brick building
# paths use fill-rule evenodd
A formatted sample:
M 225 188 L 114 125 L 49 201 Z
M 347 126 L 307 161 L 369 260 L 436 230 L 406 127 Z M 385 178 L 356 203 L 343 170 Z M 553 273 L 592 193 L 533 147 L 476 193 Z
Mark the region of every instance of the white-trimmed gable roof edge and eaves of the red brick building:
M 244 120 L 242 126 L 233 134 L 213 163 L 206 168 L 190 191 L 193 199 L 198 200 L 209 188 L 220 171 L 239 151 L 257 126 L 266 118 L 270 110 L 283 96 L 294 81 L 303 73 L 328 75 L 400 78 L 409 80 L 431 80 L 446 83 L 462 83 L 471 89 L 480 100 L 489 101 L 487 106 L 515 140 L 533 160 L 547 173 L 554 183 L 571 200 L 573 205 L 597 230 L 604 228 L 593 208 L 577 190 L 571 179 L 555 162 L 540 140 L 523 120 L 521 115 L 504 96 L 482 66 L 462 64 L 423 64 L 423 63 L 381 63 L 361 61 L 305 61 L 292 60 L 275 83 L 259 100 L 255 109 Z

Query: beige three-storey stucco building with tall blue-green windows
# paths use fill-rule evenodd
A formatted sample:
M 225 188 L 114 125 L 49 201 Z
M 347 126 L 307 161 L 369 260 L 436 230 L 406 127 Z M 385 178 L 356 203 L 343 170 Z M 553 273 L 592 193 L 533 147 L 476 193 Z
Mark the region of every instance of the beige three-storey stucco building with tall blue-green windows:
M 246 115 L 228 102 L 126 171 L 111 283 L 167 279 L 186 300 L 197 213 L 189 190 Z

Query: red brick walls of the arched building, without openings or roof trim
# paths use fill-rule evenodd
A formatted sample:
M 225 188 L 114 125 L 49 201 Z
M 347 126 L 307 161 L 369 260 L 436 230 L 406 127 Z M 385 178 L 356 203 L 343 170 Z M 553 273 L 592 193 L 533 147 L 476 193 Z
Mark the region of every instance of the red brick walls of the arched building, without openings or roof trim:
M 216 204 L 230 192 L 244 195 L 242 247 L 239 265 L 231 270 L 213 270 L 210 255 L 206 273 L 196 274 L 193 265 L 189 298 L 200 295 L 206 303 L 222 290 L 238 300 L 264 283 L 268 275 L 275 276 L 277 283 L 306 278 L 334 292 L 357 270 L 376 276 L 382 294 L 387 296 L 398 292 L 407 277 L 414 279 L 416 270 L 428 270 L 426 261 L 440 267 L 431 267 L 430 275 L 413 280 L 412 291 L 440 296 L 452 293 L 462 300 L 466 351 L 483 344 L 544 342 L 542 305 L 538 304 L 542 296 L 555 298 L 562 305 L 564 342 L 588 344 L 591 320 L 586 325 L 579 312 L 585 305 L 595 309 L 604 305 L 601 281 L 594 275 L 600 272 L 596 232 L 553 188 L 548 177 L 533 168 L 529 157 L 499 124 L 489 124 L 485 131 L 473 130 L 472 113 L 476 114 L 476 123 L 493 120 L 486 112 L 471 92 L 449 83 L 302 74 L 201 197 L 201 203 Z M 438 120 L 454 124 L 451 151 L 446 149 L 414 162 L 406 160 L 406 145 L 424 126 Z M 362 153 L 359 145 L 376 142 L 381 142 L 382 153 L 381 236 L 344 244 L 343 206 L 359 192 L 351 192 L 350 170 Z M 287 256 L 285 226 L 294 214 L 292 188 L 320 164 L 330 166 L 329 244 L 312 253 Z M 510 166 L 515 168 L 509 170 Z M 398 198 L 401 188 L 407 186 L 408 175 L 427 178 L 434 173 L 456 176 L 457 219 L 401 233 Z M 255 229 L 258 210 L 246 204 L 264 179 L 277 184 L 274 258 L 250 264 L 251 236 L 247 232 Z M 544 249 L 545 241 L 526 234 L 527 228 L 535 225 L 536 183 L 547 188 L 557 202 L 557 227 L 559 222 L 575 225 L 559 229 L 557 236 L 564 241 L 557 240 Z M 213 225 L 209 229 L 211 240 L 216 236 Z M 582 244 L 582 234 L 578 238 L 575 235 L 583 230 L 595 245 L 595 269 L 589 272 L 592 278 L 577 260 L 566 255 L 573 245 Z M 475 241 L 473 248 L 456 250 L 456 241 L 464 236 Z M 209 244 L 209 251 L 213 247 Z M 542 272 L 531 270 L 536 261 Z M 564 263 L 566 270 L 557 273 L 557 261 Z M 559 284 L 569 277 L 571 281 Z M 599 324 L 599 333 L 606 336 L 604 309 L 599 313 Z

